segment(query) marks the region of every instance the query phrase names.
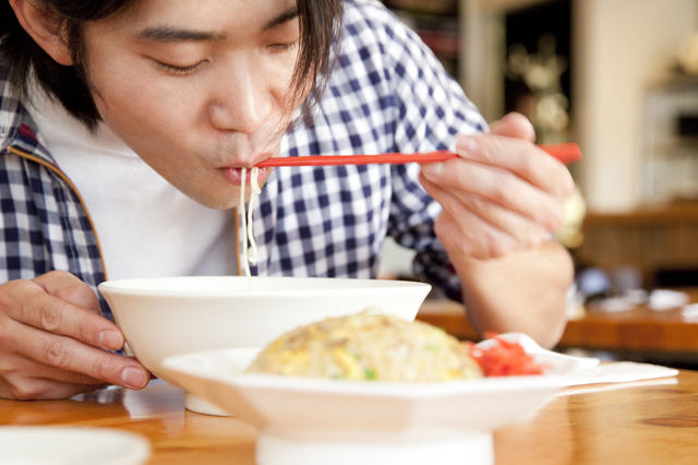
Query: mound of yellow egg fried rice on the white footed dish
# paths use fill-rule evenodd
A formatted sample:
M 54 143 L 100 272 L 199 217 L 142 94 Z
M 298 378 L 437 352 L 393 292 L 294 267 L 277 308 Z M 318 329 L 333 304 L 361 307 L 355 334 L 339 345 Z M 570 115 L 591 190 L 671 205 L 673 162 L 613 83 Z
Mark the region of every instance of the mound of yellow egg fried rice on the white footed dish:
M 444 331 L 366 313 L 286 333 L 260 353 L 248 372 L 405 383 L 483 375 L 469 346 Z

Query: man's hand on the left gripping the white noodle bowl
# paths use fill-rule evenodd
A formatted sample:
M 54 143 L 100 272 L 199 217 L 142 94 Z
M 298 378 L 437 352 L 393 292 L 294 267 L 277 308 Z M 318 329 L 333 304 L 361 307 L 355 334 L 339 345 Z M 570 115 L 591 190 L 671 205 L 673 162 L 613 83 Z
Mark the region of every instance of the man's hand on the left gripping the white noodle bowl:
M 143 389 L 149 372 L 109 351 L 123 344 L 95 293 L 70 273 L 0 286 L 0 398 L 68 398 L 108 384 Z

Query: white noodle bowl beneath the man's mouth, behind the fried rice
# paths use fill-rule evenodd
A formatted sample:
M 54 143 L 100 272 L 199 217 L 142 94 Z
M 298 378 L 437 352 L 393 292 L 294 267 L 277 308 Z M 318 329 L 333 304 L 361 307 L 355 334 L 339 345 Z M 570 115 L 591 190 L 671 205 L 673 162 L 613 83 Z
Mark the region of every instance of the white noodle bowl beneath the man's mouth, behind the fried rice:
M 366 309 L 412 321 L 431 286 L 423 283 L 303 277 L 195 276 L 109 281 L 99 291 L 139 361 L 178 385 L 166 357 L 262 348 L 287 331 Z M 180 386 L 182 388 L 182 386 Z M 224 415 L 186 395 L 194 412 Z

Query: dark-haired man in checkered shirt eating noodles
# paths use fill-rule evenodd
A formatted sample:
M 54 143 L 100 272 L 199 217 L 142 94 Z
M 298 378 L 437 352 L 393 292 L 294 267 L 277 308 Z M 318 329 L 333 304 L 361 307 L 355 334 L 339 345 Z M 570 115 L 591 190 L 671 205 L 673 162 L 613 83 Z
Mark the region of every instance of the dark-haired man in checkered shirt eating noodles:
M 146 370 L 111 351 L 123 335 L 96 285 L 105 270 L 234 273 L 241 168 L 429 152 L 457 132 L 462 157 L 447 163 L 260 170 L 256 272 L 371 277 L 390 235 L 480 331 L 556 343 L 573 271 L 547 238 L 568 171 L 521 116 L 482 134 L 458 85 L 380 3 L 63 3 L 0 7 L 0 397 L 145 386 Z

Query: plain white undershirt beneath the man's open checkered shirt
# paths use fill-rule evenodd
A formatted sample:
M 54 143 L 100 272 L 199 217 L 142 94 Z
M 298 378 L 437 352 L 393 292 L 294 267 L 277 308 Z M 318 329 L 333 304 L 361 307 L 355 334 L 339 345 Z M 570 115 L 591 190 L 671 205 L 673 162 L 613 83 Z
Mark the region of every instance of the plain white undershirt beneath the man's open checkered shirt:
M 34 91 L 37 136 L 82 195 L 109 279 L 238 274 L 232 210 L 194 202 L 106 124 L 93 134 Z

